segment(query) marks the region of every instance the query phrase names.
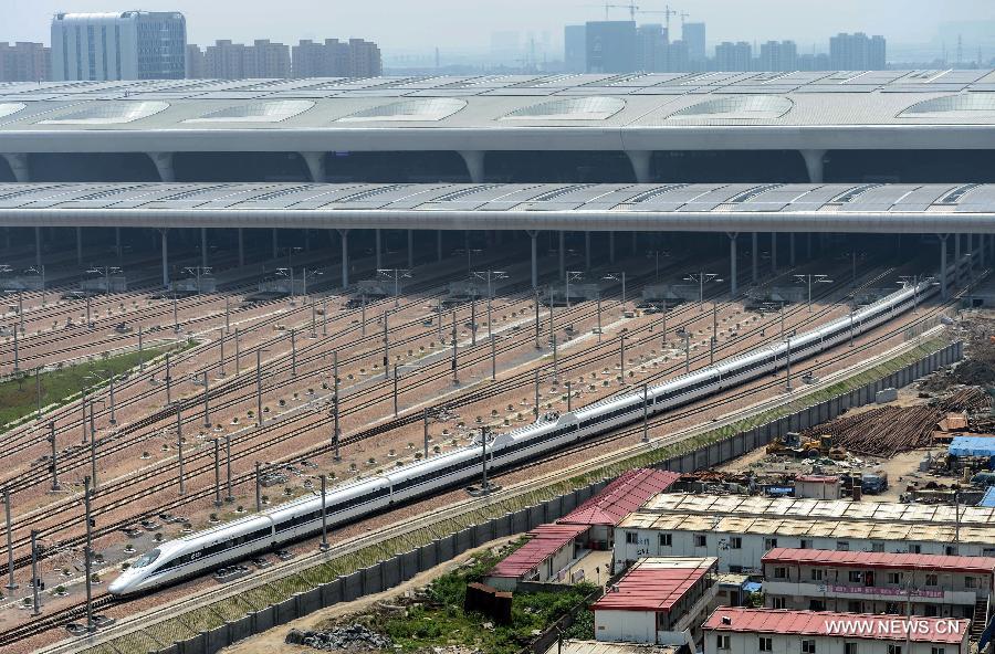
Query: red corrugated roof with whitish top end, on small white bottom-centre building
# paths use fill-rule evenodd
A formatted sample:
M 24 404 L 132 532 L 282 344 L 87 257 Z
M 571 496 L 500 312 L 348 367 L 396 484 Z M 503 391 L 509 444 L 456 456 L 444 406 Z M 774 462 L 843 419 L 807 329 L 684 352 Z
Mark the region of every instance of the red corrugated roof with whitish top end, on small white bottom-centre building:
M 639 559 L 591 610 L 669 612 L 691 587 L 718 566 L 715 557 Z

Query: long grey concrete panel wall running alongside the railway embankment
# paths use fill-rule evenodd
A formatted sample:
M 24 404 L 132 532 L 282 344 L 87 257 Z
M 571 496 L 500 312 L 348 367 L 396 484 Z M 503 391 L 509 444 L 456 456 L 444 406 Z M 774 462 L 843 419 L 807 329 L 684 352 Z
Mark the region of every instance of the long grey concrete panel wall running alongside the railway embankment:
M 851 407 L 871 403 L 878 391 L 909 386 L 915 379 L 959 361 L 962 357 L 963 345 L 960 341 L 954 342 L 884 379 L 872 381 L 842 395 L 806 407 L 767 424 L 733 434 L 694 452 L 661 461 L 656 467 L 675 472 L 693 472 L 719 465 L 766 445 L 776 436 L 784 435 L 789 431 L 799 431 L 832 420 Z M 541 524 L 556 520 L 600 492 L 607 484 L 608 479 L 600 481 L 540 505 L 525 507 L 481 525 L 468 527 L 457 534 L 443 536 L 415 550 L 357 570 L 352 574 L 339 577 L 311 591 L 297 593 L 279 604 L 266 606 L 209 632 L 201 632 L 192 639 L 177 642 L 169 647 L 159 650 L 156 654 L 214 654 L 222 647 L 242 639 L 279 624 L 286 624 L 318 609 L 383 592 L 398 586 L 401 581 L 411 579 L 418 572 L 434 568 L 484 542 L 513 534 L 522 534 Z M 184 616 L 180 615 L 177 619 L 182 621 Z

